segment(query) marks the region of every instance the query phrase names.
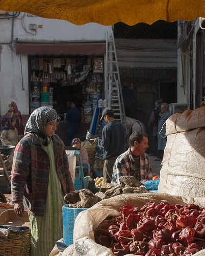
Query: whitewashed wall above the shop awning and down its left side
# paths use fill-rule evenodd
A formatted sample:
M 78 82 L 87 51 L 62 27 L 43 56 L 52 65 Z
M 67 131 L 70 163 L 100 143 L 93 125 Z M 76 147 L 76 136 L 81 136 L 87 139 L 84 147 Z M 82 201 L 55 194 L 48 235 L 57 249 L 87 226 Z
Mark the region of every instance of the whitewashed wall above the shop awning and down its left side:
M 16 102 L 22 115 L 29 115 L 28 56 L 22 54 L 20 63 L 20 55 L 16 55 L 16 40 L 36 43 L 106 41 L 106 31 L 112 28 L 94 23 L 76 26 L 64 20 L 28 15 L 20 13 L 14 18 L 13 30 L 12 18 L 0 19 L 1 115 L 8 111 L 11 100 Z M 37 29 L 30 30 L 29 24 L 36 24 Z

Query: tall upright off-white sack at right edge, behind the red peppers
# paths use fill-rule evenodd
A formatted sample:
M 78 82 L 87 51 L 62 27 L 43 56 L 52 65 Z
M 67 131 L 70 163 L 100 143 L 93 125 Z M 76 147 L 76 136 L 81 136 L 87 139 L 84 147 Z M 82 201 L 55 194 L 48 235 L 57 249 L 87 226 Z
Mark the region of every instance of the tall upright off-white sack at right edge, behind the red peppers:
M 166 135 L 158 192 L 205 197 L 205 106 L 170 116 Z

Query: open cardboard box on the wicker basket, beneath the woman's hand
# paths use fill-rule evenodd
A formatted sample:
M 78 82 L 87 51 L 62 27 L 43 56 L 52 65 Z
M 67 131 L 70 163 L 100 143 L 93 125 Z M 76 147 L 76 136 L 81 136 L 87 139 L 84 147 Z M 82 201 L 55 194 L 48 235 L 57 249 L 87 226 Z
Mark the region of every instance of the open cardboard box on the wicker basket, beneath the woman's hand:
M 19 217 L 13 209 L 5 210 L 0 215 L 0 225 L 30 227 L 28 212 L 24 211 L 23 217 Z

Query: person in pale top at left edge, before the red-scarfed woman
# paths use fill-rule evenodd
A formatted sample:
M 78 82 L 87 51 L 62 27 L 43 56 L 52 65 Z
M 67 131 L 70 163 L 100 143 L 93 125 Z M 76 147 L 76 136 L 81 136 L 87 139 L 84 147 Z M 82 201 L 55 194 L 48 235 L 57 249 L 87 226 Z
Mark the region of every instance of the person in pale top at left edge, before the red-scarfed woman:
M 6 126 L 4 126 L 1 133 L 2 145 L 16 146 L 18 144 L 18 131 L 15 127 L 16 119 L 15 116 L 9 117 Z

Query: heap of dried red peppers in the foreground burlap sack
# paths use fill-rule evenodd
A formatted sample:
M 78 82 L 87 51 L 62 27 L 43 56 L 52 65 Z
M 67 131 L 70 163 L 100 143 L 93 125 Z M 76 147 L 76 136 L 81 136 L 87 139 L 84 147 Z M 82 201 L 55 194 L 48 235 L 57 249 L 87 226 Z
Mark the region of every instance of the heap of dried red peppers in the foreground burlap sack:
M 96 243 L 115 255 L 191 256 L 205 248 L 205 208 L 148 202 L 120 207 L 94 230 Z

